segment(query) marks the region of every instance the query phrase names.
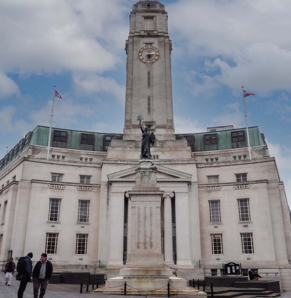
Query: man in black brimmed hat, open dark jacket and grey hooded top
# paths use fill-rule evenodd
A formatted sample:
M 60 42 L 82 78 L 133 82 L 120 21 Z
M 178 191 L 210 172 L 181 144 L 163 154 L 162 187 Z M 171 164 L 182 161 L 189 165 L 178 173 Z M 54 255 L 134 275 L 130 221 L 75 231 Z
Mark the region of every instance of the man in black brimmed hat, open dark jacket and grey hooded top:
M 47 254 L 41 254 L 41 259 L 35 264 L 33 278 L 33 297 L 38 298 L 38 289 L 41 287 L 39 298 L 43 298 L 47 284 L 52 276 L 52 263 L 47 259 Z

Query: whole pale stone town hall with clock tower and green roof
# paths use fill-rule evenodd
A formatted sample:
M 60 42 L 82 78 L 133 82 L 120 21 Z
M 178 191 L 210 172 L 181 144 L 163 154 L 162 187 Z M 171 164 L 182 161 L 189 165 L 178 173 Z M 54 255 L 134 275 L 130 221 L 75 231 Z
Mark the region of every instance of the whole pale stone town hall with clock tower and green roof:
M 108 278 L 145 260 L 187 280 L 234 262 L 291 290 L 290 211 L 264 134 L 231 125 L 175 134 L 171 50 L 164 5 L 137 2 L 123 134 L 52 128 L 48 144 L 49 127 L 37 126 L 0 159 L 2 269 L 30 251 Z M 150 159 L 139 114 L 155 135 Z

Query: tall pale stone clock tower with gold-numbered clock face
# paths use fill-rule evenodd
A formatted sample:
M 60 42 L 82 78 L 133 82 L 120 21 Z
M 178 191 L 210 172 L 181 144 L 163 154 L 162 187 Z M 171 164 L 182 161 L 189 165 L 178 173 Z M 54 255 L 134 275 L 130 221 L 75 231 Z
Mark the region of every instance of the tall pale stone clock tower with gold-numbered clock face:
M 175 139 L 168 15 L 159 1 L 139 1 L 130 13 L 126 41 L 126 106 L 123 139 L 140 140 L 137 115 L 159 141 Z

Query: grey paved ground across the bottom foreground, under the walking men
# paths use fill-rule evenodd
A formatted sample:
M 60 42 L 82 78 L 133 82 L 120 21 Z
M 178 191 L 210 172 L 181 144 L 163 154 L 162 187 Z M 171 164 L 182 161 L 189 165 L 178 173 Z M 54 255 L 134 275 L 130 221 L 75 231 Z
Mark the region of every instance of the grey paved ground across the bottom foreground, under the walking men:
M 17 298 L 17 291 L 20 282 L 15 279 L 16 272 L 14 273 L 14 276 L 12 277 L 11 284 L 8 287 L 5 285 L 5 275 L 4 272 L 0 271 L 0 298 Z M 90 289 L 89 289 L 90 290 Z M 92 288 L 91 288 L 92 290 Z M 44 298 L 79 298 L 79 297 L 85 297 L 90 298 L 121 298 L 122 295 L 111 295 L 111 294 L 96 294 L 96 293 L 90 293 L 86 292 L 86 288 L 83 288 L 83 293 L 80 294 L 80 285 L 69 285 L 69 284 L 49 284 L 47 287 L 46 294 L 44 295 Z M 33 297 L 33 289 L 32 289 L 32 283 L 27 283 L 26 290 L 24 292 L 23 298 L 32 298 Z M 141 298 L 144 296 L 129 296 L 129 298 Z M 186 296 L 176 296 L 176 297 L 186 297 Z M 191 297 L 189 295 L 188 297 Z M 282 292 L 281 293 L 282 298 L 291 298 L 291 292 Z M 151 297 L 154 298 L 154 297 Z M 160 297 L 157 297 L 160 298 Z

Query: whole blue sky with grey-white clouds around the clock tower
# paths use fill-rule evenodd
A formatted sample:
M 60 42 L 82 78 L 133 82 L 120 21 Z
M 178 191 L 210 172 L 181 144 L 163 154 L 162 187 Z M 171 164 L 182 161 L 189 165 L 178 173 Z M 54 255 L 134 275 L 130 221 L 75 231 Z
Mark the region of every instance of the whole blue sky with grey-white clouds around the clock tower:
M 291 1 L 165 0 L 176 133 L 259 126 L 291 205 Z M 37 125 L 122 133 L 128 0 L 0 2 L 0 157 Z M 6 148 L 8 147 L 8 148 Z

